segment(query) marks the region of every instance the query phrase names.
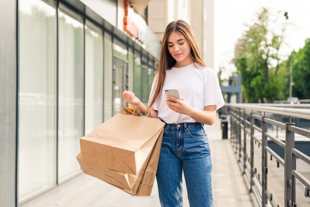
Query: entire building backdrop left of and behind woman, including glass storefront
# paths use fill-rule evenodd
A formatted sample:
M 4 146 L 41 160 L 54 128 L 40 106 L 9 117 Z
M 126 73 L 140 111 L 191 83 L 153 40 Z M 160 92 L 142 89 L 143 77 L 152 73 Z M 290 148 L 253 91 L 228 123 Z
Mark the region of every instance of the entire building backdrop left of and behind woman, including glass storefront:
M 213 67 L 213 0 L 0 1 L 0 206 L 82 173 L 79 138 L 147 103 L 166 25 L 192 25 Z

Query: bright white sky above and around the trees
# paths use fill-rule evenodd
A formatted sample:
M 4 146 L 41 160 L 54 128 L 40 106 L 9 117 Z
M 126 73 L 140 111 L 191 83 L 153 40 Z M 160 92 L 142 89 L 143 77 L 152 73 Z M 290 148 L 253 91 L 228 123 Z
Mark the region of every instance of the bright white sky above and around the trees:
M 235 44 L 262 7 L 269 9 L 271 20 L 287 21 L 282 58 L 298 51 L 310 38 L 310 0 L 214 0 L 214 69 L 226 68 L 221 78 L 228 78 L 236 68 L 231 64 Z M 289 19 L 285 20 L 284 12 Z M 279 29 L 278 24 L 273 28 Z

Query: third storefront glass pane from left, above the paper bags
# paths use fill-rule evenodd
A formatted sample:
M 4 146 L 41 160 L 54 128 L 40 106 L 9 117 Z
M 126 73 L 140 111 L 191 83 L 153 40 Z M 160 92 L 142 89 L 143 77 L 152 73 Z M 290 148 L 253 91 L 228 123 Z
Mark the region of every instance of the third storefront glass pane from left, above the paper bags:
M 85 135 L 103 123 L 103 32 L 85 26 Z

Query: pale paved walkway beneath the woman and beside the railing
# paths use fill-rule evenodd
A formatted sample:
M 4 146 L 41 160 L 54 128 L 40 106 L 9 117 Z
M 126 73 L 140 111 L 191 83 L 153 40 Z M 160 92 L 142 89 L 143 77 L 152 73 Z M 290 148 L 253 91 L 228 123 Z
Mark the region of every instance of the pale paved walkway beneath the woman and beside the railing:
M 213 162 L 214 207 L 254 207 L 229 140 L 221 140 L 220 119 L 206 126 Z M 189 207 L 183 181 L 184 207 Z M 156 181 L 152 195 L 133 197 L 81 174 L 23 207 L 160 207 Z

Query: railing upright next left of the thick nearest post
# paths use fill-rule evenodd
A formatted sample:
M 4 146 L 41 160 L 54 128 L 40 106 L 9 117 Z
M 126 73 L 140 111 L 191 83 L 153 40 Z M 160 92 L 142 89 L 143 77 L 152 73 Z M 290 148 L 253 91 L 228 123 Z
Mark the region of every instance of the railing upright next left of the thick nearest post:
M 264 121 L 265 114 L 261 118 L 261 207 L 265 207 L 267 204 L 267 196 L 266 196 L 266 190 L 267 190 L 267 151 L 266 146 L 268 146 L 267 143 L 267 137 L 265 136 L 265 133 L 267 132 L 267 122 Z

